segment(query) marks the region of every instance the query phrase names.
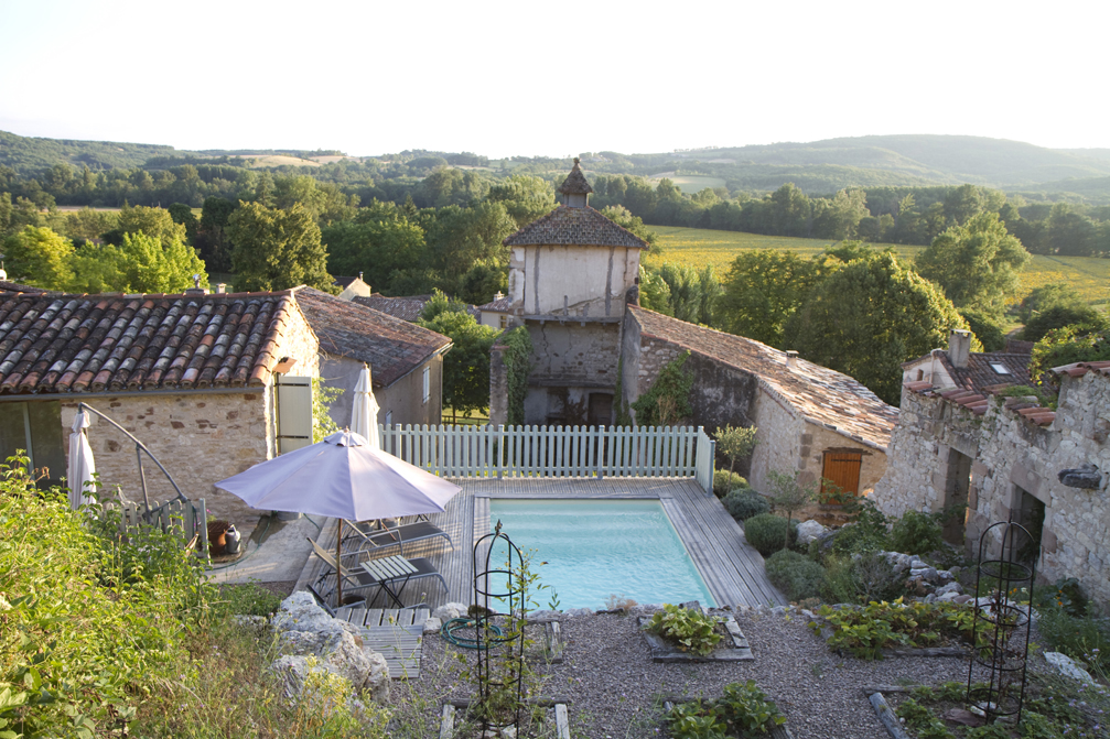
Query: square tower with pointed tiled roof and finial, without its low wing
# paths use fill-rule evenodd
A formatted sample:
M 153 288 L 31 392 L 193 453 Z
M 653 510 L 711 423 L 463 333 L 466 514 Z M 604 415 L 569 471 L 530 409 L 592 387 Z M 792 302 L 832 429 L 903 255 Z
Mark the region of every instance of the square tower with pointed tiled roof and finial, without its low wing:
M 534 351 L 524 423 L 608 426 L 615 421 L 625 296 L 638 281 L 647 244 L 589 207 L 593 188 L 577 160 L 559 192 L 563 205 L 504 242 L 505 307 L 514 325 L 527 327 Z M 501 386 L 497 377 L 491 383 Z M 495 394 L 491 422 L 506 417 Z

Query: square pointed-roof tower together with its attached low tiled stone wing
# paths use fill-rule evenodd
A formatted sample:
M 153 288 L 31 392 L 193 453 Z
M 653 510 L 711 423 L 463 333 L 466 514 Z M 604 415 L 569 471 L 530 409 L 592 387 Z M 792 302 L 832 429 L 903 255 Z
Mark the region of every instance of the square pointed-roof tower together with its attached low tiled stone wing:
M 688 421 L 710 433 L 757 426 L 759 444 L 743 470 L 757 488 L 773 469 L 828 477 L 857 493 L 882 477 L 897 408 L 796 353 L 638 307 L 647 244 L 588 206 L 592 189 L 577 162 L 559 192 L 562 206 L 505 240 L 505 307 L 533 344 L 526 424 L 610 425 L 617 403 L 630 406 L 666 363 L 689 351 Z M 494 347 L 490 381 L 494 424 L 507 418 L 501 351 Z

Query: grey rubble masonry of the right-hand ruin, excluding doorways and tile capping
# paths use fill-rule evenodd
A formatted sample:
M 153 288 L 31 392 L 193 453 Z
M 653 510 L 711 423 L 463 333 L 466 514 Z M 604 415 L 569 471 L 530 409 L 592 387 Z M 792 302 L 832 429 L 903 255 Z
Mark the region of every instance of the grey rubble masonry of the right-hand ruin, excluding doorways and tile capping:
M 970 412 L 940 398 L 904 392 L 891 443 L 890 468 L 875 500 L 892 515 L 942 505 L 952 452 L 971 456 L 966 543 L 969 554 L 991 524 L 1020 516 L 1022 493 L 1045 505 L 1039 579 L 1079 579 L 1088 596 L 1110 600 L 1110 378 L 1099 373 L 1062 378 L 1056 419 L 1049 427 L 1026 421 L 991 398 L 987 412 Z M 1093 464 L 1097 489 L 1067 487 L 1061 469 Z M 992 534 L 1000 534 L 999 528 Z M 988 553 L 997 556 L 999 537 Z

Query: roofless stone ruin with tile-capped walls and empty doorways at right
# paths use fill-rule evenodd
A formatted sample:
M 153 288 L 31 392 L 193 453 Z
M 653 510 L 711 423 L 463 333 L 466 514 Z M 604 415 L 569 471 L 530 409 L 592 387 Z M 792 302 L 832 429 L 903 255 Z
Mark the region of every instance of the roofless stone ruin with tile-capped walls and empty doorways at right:
M 1013 519 L 1033 539 L 1019 553 L 1041 581 L 1079 579 L 1087 594 L 1110 599 L 1110 363 L 1053 370 L 1057 409 L 1036 397 L 939 391 L 926 381 L 902 389 L 901 415 L 887 475 L 872 499 L 889 515 L 967 505 L 945 530 L 976 555 L 980 535 Z M 993 529 L 997 534 L 998 529 Z M 999 554 L 992 537 L 987 551 Z

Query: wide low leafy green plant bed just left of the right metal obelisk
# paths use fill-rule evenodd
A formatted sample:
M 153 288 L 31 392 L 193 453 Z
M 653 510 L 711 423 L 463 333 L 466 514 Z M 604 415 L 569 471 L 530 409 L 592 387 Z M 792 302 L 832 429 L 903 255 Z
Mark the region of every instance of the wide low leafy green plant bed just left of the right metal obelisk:
M 936 647 L 958 641 L 976 648 L 989 642 L 991 625 L 979 619 L 976 638 L 975 611 L 953 603 L 870 603 L 862 608 L 834 610 L 821 606 L 817 611 L 833 634 L 826 641 L 829 649 L 842 649 L 860 659 L 881 659 L 888 647 Z M 825 625 L 809 621 L 818 634 Z

